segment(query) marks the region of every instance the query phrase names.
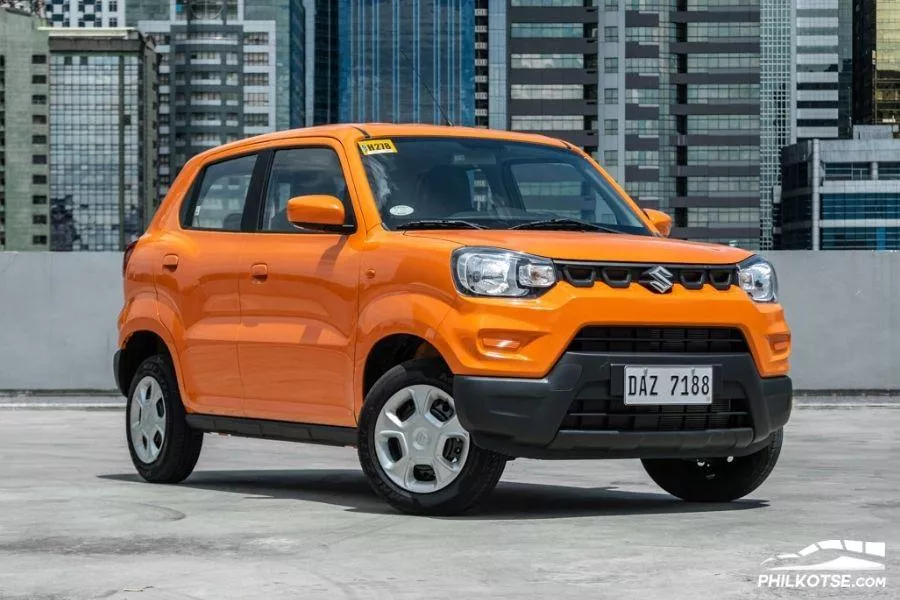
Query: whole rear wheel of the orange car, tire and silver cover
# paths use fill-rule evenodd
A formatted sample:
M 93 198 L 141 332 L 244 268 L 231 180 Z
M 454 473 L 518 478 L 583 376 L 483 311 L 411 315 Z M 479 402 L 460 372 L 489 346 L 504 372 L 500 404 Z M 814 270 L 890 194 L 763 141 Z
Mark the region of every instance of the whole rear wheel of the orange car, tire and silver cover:
M 138 367 L 125 407 L 131 462 L 152 483 L 178 483 L 194 470 L 203 432 L 185 420 L 184 405 L 168 357 L 156 355 Z

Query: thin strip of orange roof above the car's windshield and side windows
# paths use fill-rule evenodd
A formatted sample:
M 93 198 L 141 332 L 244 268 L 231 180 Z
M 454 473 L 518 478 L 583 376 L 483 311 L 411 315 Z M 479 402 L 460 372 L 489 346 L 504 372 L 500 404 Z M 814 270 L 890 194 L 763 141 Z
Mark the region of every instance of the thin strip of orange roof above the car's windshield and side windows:
M 341 123 L 336 125 L 317 125 L 300 129 L 288 129 L 264 133 L 236 142 L 211 148 L 197 155 L 197 159 L 203 161 L 207 157 L 220 153 L 232 153 L 235 150 L 250 149 L 250 147 L 264 145 L 268 142 L 280 140 L 302 139 L 306 137 L 331 137 L 342 142 L 353 143 L 367 138 L 386 137 L 471 137 L 481 139 L 496 139 L 516 142 L 531 142 L 546 144 L 560 148 L 572 148 L 562 140 L 533 133 L 520 133 L 514 131 L 502 131 L 498 129 L 481 129 L 476 127 L 461 127 L 450 125 L 426 125 L 421 123 Z

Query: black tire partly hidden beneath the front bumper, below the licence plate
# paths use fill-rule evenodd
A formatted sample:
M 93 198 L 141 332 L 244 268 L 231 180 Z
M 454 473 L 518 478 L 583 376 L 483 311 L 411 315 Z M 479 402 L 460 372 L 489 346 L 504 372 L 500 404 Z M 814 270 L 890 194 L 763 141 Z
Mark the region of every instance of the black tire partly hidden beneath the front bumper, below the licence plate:
M 762 449 L 735 456 L 731 462 L 725 458 L 641 462 L 650 478 L 673 496 L 688 502 L 731 502 L 762 485 L 778 462 L 783 439 L 783 430 L 779 429 Z

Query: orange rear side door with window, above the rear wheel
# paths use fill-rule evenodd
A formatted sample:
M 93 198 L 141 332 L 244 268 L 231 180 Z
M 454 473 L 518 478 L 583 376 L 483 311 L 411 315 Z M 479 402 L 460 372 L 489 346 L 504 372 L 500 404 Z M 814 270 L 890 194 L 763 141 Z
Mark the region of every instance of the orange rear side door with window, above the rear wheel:
M 184 200 L 181 229 L 161 239 L 157 294 L 173 315 L 169 327 L 193 412 L 242 414 L 238 259 L 248 237 L 243 221 L 252 221 L 245 212 L 256 163 L 250 154 L 207 165 Z

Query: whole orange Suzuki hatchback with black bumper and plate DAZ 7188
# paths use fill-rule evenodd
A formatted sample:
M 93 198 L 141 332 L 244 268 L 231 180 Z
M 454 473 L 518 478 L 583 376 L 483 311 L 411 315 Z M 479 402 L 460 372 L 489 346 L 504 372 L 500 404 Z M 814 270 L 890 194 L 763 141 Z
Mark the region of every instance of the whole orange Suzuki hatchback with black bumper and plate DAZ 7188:
M 637 457 L 685 500 L 744 496 L 791 411 L 775 272 L 670 225 L 538 135 L 338 125 L 204 152 L 125 253 L 134 465 L 181 481 L 220 432 L 356 446 L 411 513 L 475 505 L 514 457 Z

